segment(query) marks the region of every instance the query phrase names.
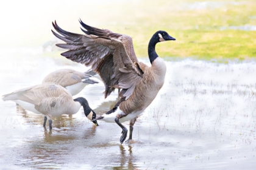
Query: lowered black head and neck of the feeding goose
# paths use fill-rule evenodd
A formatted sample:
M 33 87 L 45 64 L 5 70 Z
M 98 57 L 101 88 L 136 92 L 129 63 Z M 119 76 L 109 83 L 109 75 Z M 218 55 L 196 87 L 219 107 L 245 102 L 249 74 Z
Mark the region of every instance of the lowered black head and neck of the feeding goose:
M 88 101 L 84 97 L 75 98 L 74 101 L 78 101 L 81 106 L 84 107 L 85 116 L 88 118 L 88 120 L 94 120 L 96 118 L 95 112 L 91 109 L 91 107 L 88 104 Z M 96 126 L 99 126 L 97 120 L 93 121 L 93 123 Z

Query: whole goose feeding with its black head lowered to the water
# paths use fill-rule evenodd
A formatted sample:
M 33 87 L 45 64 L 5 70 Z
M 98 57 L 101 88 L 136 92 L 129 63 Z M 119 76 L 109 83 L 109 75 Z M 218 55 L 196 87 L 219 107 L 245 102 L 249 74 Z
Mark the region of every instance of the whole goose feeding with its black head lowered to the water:
M 52 129 L 52 116 L 76 114 L 81 106 L 84 107 L 85 116 L 89 120 L 96 118 L 95 112 L 90 108 L 85 98 L 79 97 L 73 100 L 70 92 L 57 84 L 40 84 L 27 87 L 2 97 L 2 100 L 14 101 L 35 114 L 43 114 L 43 126 L 45 127 L 48 118 L 50 129 Z M 96 120 L 93 120 L 93 123 L 98 126 Z

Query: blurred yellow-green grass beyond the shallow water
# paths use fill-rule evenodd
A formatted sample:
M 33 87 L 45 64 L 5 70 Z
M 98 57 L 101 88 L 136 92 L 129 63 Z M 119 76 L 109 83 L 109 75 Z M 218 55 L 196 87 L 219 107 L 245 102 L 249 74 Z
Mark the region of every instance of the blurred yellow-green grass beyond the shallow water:
M 148 42 L 157 30 L 177 41 L 157 45 L 160 56 L 210 60 L 256 57 L 256 1 L 140 1 L 141 10 L 119 7 L 129 17 L 110 16 L 103 28 L 132 36 L 137 56 L 148 56 Z M 123 21 L 126 22 L 123 22 Z M 242 27 L 240 27 L 242 26 Z M 255 30 L 243 30 L 254 27 Z M 242 28 L 242 30 L 241 30 Z

